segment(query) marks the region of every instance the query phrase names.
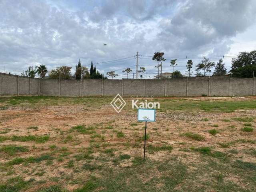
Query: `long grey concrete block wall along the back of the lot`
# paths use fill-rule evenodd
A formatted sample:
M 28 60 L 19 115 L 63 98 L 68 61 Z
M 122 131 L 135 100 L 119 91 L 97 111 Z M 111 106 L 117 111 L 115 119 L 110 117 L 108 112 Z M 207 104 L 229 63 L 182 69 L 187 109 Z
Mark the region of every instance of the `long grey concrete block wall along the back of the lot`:
M 165 80 L 52 80 L 0 73 L 0 95 L 44 96 L 246 96 L 256 95 L 256 78 Z

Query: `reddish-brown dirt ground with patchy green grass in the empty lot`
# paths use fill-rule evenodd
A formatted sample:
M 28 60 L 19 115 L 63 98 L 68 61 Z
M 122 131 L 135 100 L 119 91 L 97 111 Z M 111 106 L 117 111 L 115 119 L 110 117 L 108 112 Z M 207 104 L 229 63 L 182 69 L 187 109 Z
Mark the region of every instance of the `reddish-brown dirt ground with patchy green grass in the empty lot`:
M 119 114 L 110 106 L 111 98 L 89 98 L 78 104 L 69 100 L 73 98 L 59 101 L 42 97 L 35 102 L 1 99 L 2 189 L 12 186 L 10 181 L 15 177 L 25 183 L 22 187 L 17 186 L 17 191 L 32 192 L 58 185 L 72 191 L 84 186 L 88 180 L 104 178 L 108 172 L 106 167 L 114 171 L 130 167 L 139 173 L 136 159 L 141 160 L 143 156 L 144 122 L 137 122 L 137 112 L 131 109 L 130 98 L 125 98 L 127 106 Z M 97 100 L 101 100 L 100 104 Z M 146 162 L 152 163 L 149 172 L 154 174 L 148 178 L 143 175 L 143 184 L 132 184 L 131 176 L 125 175 L 124 183 L 128 189 L 146 191 L 140 186 L 156 177 L 159 182 L 154 180 L 153 186 L 149 184 L 152 191 L 153 188 L 156 191 L 256 190 L 256 108 L 236 107 L 230 112 L 215 108 L 204 110 L 197 106 L 219 102 L 223 105 L 249 101 L 254 104 L 256 97 L 170 97 L 154 98 L 154 101 L 159 101 L 160 108 L 164 108 L 157 110 L 156 122 L 149 122 L 147 128 Z M 183 108 L 172 110 L 166 107 L 172 102 L 180 102 Z M 194 104 L 192 108 L 191 102 Z M 189 110 L 186 105 L 190 105 Z M 80 127 L 76 127 L 78 125 Z M 29 136 L 49 138 L 41 141 Z M 10 153 L 3 146 L 13 147 L 14 152 Z M 24 146 L 26 150 L 19 151 L 15 148 L 18 146 Z M 48 158 L 29 160 L 44 154 Z M 126 156 L 122 156 L 124 154 Z M 180 174 L 181 179 L 171 187 L 162 175 L 166 174 L 172 180 L 172 174 L 162 173 L 158 168 L 166 161 L 186 167 L 186 173 Z M 89 164 L 89 168 L 83 164 Z M 118 181 L 116 178 L 115 182 Z M 91 191 L 112 191 L 107 185 L 109 181 L 104 181 L 106 185 L 101 182 Z M 138 188 L 134 189 L 136 185 Z M 123 191 L 121 189 L 117 187 L 116 191 Z

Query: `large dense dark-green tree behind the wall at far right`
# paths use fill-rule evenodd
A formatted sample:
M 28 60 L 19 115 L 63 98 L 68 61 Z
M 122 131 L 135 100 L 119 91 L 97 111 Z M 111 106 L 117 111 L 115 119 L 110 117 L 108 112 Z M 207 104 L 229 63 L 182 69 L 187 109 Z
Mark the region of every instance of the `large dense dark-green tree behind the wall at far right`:
M 253 77 L 253 72 L 256 72 L 256 50 L 251 52 L 240 52 L 237 58 L 232 58 L 233 77 Z

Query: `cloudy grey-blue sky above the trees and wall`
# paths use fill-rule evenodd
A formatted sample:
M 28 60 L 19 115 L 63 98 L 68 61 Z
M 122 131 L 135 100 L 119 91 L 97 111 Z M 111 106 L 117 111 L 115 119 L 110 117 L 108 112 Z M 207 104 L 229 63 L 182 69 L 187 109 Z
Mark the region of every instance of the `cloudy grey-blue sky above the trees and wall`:
M 138 51 L 152 78 L 154 52 L 165 53 L 163 72 L 177 58 L 185 73 L 188 58 L 224 55 L 229 69 L 232 56 L 256 49 L 255 0 L 0 0 L 0 18 L 0 71 L 12 74 L 39 64 L 74 72 L 80 58 L 124 78 Z

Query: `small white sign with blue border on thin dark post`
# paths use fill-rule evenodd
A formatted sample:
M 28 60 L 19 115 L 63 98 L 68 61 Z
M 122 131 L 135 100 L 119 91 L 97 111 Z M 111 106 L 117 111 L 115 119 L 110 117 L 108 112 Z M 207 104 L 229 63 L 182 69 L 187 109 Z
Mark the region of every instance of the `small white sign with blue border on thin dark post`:
M 144 135 L 144 157 L 146 151 L 146 132 L 147 132 L 147 122 L 155 121 L 156 110 L 155 109 L 138 109 L 138 121 L 145 121 L 145 135 Z

